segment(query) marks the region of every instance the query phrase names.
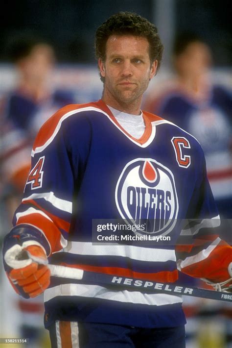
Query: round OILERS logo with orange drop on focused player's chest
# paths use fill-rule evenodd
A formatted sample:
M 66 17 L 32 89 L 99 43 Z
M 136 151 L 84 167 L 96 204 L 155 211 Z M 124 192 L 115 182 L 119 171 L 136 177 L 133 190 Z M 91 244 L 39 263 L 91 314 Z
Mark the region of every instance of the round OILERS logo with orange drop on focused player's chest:
M 128 224 L 144 224 L 137 234 L 168 234 L 178 214 L 172 172 L 151 158 L 127 163 L 116 184 L 116 206 Z

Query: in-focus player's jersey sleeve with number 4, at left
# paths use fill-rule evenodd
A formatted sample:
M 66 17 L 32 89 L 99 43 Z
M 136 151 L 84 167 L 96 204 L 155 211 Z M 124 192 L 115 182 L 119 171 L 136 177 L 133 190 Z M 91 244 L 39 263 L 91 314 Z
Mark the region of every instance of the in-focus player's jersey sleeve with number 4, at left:
M 88 152 L 89 129 L 81 123 L 76 128 L 73 121 L 76 115 L 66 107 L 40 129 L 22 203 L 10 232 L 21 243 L 39 242 L 47 255 L 67 245 L 76 183 L 85 165 L 85 150 Z M 84 140 L 86 146 L 81 145 Z

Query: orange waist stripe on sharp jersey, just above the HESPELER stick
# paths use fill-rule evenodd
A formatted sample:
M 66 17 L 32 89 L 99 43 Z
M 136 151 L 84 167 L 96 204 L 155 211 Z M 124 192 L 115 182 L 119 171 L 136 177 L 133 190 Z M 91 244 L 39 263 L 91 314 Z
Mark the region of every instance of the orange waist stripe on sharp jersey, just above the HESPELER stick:
M 69 265 L 65 262 L 60 263 L 61 266 L 67 266 L 71 268 L 79 268 L 84 271 L 96 272 L 96 273 L 105 273 L 118 275 L 123 277 L 130 278 L 139 278 L 144 280 L 154 280 L 161 282 L 174 282 L 178 279 L 178 271 L 162 271 L 157 273 L 139 273 L 133 272 L 132 270 L 119 267 L 98 267 L 98 266 L 89 266 L 89 265 Z

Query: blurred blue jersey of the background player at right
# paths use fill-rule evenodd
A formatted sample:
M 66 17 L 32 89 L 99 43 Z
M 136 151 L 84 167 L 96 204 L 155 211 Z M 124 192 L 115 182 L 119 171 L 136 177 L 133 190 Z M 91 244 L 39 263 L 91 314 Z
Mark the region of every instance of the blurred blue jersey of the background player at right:
M 147 103 L 157 112 L 194 135 L 200 142 L 207 173 L 220 214 L 231 218 L 232 204 L 232 95 L 213 86 L 207 100 L 196 101 L 178 86 L 166 88 Z

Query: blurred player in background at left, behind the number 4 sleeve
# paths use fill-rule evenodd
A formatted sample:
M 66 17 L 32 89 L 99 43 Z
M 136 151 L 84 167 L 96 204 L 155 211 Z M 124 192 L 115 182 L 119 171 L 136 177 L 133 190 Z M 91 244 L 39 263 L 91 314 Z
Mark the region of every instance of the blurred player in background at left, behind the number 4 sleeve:
M 70 91 L 55 90 L 52 86 L 55 53 L 43 39 L 32 33 L 19 34 L 11 39 L 7 53 L 18 73 L 15 89 L 3 97 L 0 105 L 0 194 L 11 224 L 13 212 L 23 196 L 35 135 L 57 108 L 74 100 Z M 30 337 L 35 347 L 32 339 L 40 336 L 43 299 L 22 298 L 18 305 L 23 316 L 21 334 Z

